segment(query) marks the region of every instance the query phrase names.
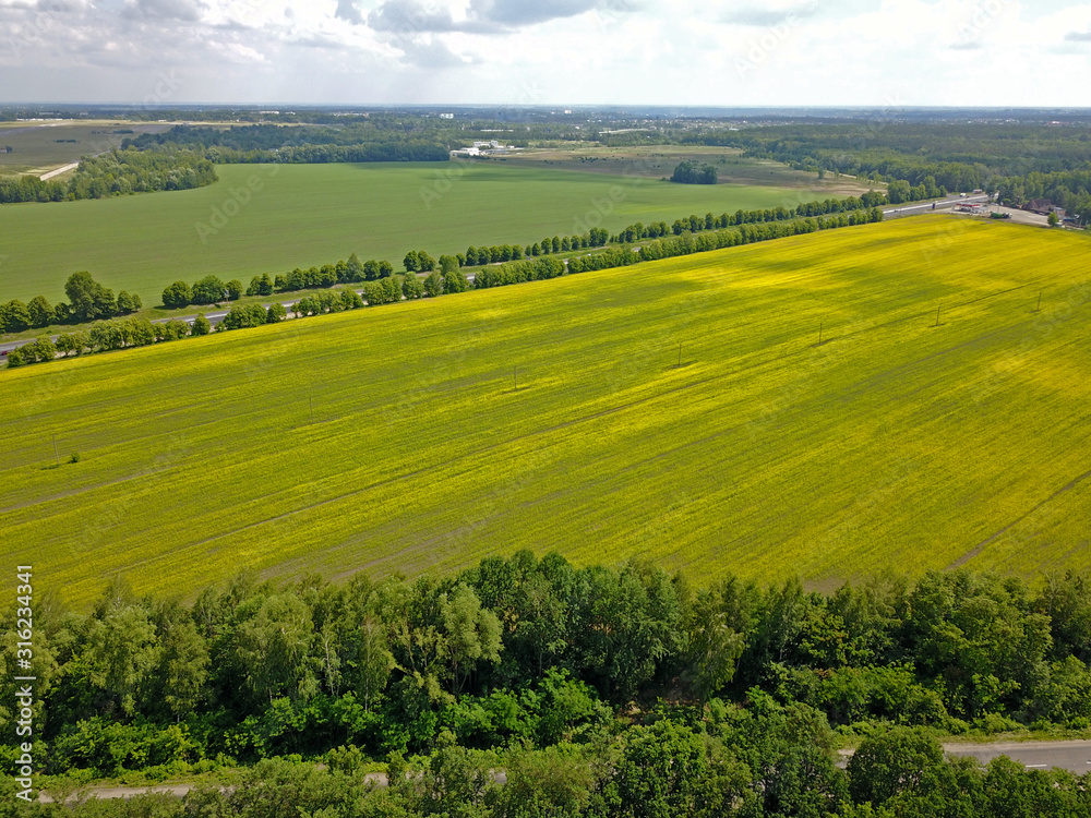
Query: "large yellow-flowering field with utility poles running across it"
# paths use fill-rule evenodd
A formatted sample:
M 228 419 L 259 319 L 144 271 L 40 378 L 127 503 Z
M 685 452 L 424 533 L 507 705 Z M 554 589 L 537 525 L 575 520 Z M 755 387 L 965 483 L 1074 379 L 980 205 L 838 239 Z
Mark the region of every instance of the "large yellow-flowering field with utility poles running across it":
M 1088 248 L 922 217 L 3 372 L 0 553 L 75 603 L 521 548 L 1088 569 Z

